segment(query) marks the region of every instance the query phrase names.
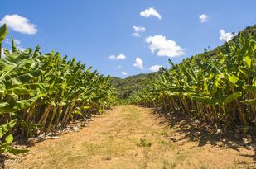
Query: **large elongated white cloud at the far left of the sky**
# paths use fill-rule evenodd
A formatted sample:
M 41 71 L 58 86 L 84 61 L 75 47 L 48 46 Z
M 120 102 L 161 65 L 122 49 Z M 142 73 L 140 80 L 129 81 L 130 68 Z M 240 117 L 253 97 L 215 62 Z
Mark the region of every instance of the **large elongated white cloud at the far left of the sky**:
M 22 34 L 34 35 L 37 32 L 36 25 L 32 24 L 26 17 L 14 15 L 6 15 L 0 21 L 0 24 L 6 23 L 13 31 Z

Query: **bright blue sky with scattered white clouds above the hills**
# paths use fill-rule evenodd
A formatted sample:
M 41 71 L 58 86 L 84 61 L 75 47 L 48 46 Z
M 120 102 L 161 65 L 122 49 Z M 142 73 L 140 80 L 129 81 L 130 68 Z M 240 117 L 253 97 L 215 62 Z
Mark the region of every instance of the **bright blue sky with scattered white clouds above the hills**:
M 39 44 L 45 53 L 54 49 L 104 75 L 127 77 L 223 44 L 256 23 L 255 7 L 254 0 L 8 0 L 0 24 L 9 24 L 21 49 Z

